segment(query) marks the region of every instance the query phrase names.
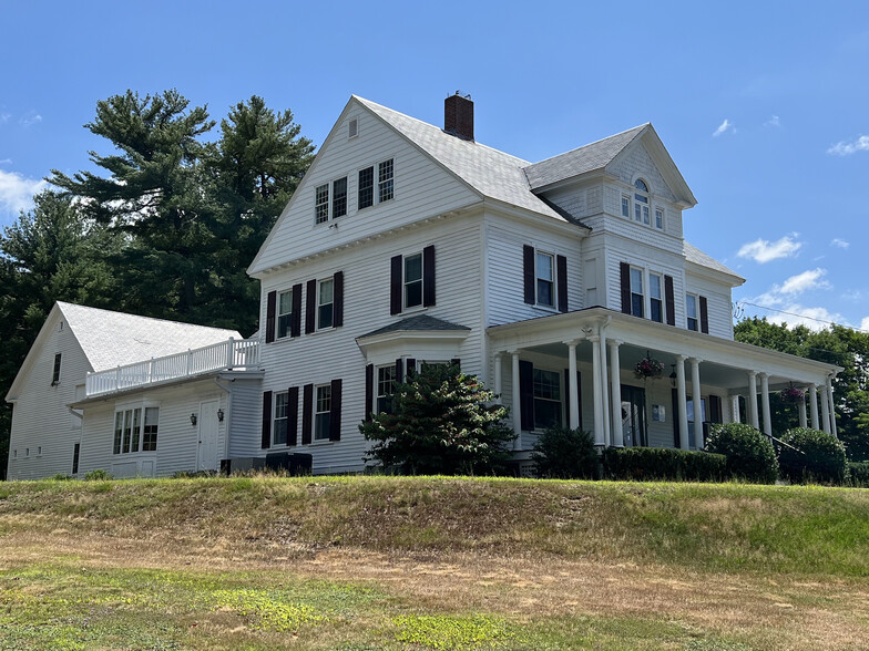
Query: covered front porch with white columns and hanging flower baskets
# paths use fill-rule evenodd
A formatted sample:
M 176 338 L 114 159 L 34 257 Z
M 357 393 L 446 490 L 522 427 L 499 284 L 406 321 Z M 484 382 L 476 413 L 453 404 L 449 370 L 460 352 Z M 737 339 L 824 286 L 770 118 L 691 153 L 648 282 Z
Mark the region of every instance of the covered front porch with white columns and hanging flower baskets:
M 560 424 L 604 446 L 701 450 L 712 423 L 773 432 L 771 393 L 790 389 L 800 426 L 836 435 L 837 366 L 590 308 L 491 327 L 490 385 L 511 407 L 515 451 Z M 663 371 L 637 378 L 644 359 Z M 699 399 L 697 399 L 699 396 Z

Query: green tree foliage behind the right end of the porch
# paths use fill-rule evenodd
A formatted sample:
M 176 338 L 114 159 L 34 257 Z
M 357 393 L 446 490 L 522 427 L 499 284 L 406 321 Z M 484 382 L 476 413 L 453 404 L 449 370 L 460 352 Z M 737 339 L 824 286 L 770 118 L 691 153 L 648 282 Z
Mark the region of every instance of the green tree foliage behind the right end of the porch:
M 766 319 L 745 319 L 734 328 L 737 341 L 837 364 L 842 371 L 832 382 L 839 438 L 852 459 L 869 459 L 869 333 L 842 326 L 809 330 L 788 328 Z M 785 432 L 799 424 L 793 404 L 770 395 L 773 430 Z

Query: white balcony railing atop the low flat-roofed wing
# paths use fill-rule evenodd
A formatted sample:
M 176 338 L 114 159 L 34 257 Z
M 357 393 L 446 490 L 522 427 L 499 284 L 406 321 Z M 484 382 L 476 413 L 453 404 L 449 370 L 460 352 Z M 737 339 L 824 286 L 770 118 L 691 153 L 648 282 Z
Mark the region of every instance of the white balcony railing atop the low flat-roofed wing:
M 251 371 L 258 366 L 259 342 L 229 338 L 227 341 L 186 352 L 88 373 L 85 396 L 92 397 L 167 380 L 192 378 L 223 369 Z

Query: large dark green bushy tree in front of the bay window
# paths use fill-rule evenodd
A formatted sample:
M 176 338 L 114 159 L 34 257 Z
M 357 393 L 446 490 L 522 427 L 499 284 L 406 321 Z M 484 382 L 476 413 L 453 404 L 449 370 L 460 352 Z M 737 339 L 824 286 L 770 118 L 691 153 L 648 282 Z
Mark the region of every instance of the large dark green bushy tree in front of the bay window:
M 366 459 L 409 475 L 498 472 L 514 434 L 494 397 L 454 365 L 423 364 L 396 385 L 388 412 L 359 425 L 374 442 Z

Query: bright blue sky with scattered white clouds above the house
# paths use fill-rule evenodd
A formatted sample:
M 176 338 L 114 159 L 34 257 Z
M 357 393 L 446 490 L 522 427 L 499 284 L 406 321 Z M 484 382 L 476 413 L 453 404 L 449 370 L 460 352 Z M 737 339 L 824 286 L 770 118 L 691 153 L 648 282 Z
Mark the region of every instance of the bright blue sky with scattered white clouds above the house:
M 441 124 L 461 90 L 529 161 L 652 122 L 747 314 L 869 330 L 869 3 L 6 0 L 0 33 L 0 226 L 108 152 L 82 125 L 126 89 L 258 94 L 315 144 L 351 93 Z

